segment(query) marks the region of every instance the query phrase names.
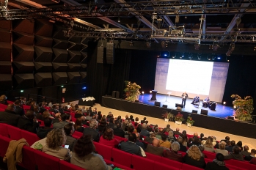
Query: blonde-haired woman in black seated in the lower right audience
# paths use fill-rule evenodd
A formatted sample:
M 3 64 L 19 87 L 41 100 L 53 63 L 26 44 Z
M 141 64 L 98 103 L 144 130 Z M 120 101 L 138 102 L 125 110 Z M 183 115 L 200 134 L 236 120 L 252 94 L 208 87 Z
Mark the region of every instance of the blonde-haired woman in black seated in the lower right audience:
M 197 166 L 200 169 L 205 168 L 205 159 L 202 157 L 202 152 L 197 145 L 189 147 L 188 152 L 183 157 L 183 162 L 191 166 Z

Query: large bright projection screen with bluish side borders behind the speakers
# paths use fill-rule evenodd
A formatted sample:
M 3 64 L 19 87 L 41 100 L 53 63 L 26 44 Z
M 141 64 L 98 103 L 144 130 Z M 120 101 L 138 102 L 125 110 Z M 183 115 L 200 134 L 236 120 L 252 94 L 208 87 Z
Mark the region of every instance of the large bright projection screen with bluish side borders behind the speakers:
M 186 91 L 190 98 L 209 96 L 211 101 L 222 102 L 228 67 L 224 62 L 158 58 L 155 89 L 160 94 L 181 96 Z

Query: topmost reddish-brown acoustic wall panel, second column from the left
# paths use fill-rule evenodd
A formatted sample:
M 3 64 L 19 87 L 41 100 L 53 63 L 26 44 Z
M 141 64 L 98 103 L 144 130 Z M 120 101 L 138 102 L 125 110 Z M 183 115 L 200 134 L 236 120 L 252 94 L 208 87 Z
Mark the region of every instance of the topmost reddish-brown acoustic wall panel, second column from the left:
M 34 34 L 34 20 L 14 20 L 12 21 L 12 30 Z

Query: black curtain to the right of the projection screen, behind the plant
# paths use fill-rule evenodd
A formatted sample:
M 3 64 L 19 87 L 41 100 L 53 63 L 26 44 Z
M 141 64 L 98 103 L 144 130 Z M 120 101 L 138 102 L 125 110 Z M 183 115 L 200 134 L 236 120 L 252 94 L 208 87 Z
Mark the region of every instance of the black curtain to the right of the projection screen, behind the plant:
M 255 56 L 232 56 L 227 73 L 227 82 L 224 90 L 223 101 L 232 106 L 231 95 L 247 95 L 256 100 L 256 58 Z M 255 105 L 254 100 L 254 105 Z

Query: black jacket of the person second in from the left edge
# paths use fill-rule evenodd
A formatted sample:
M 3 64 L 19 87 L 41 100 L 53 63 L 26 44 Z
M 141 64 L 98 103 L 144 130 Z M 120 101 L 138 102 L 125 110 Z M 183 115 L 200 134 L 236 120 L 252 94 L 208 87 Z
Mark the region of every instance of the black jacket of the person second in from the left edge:
M 33 119 L 28 119 L 23 116 L 18 120 L 17 127 L 32 133 L 37 133 L 37 127 L 39 127 L 39 123 L 34 122 Z

